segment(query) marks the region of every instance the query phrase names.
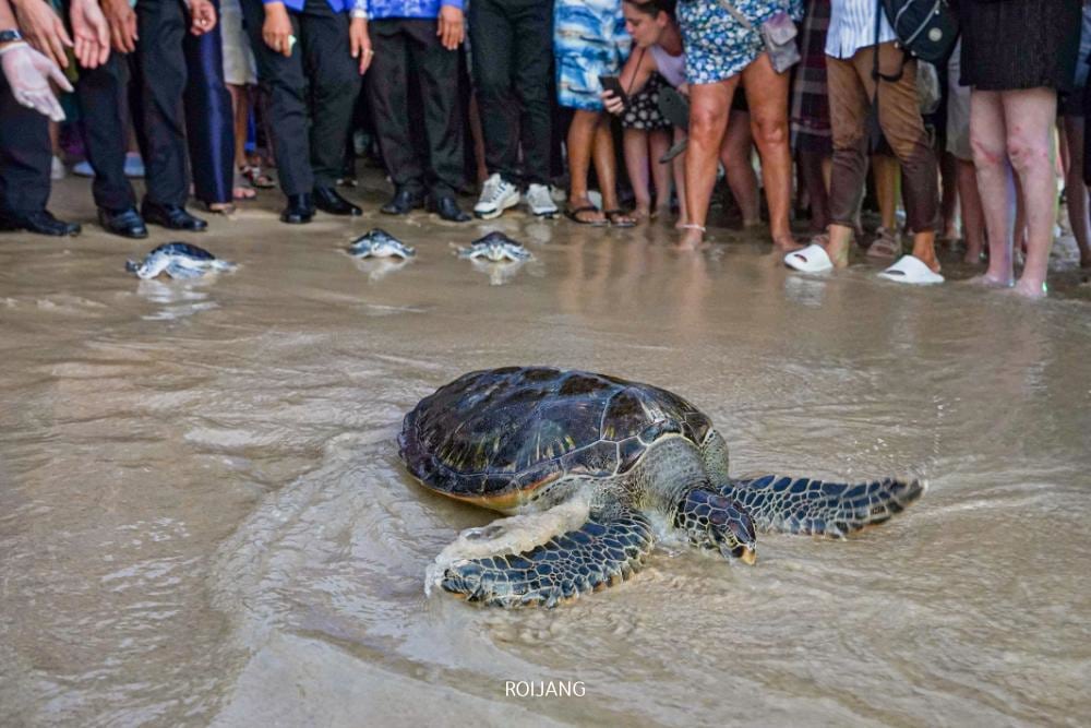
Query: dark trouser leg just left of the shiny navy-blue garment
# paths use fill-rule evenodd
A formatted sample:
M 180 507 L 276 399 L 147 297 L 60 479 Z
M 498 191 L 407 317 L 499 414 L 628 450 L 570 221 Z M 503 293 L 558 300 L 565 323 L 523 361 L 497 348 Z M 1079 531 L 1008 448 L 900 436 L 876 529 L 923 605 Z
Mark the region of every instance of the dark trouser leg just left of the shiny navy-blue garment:
M 182 43 L 189 27 L 190 14 L 182 0 L 136 3 L 140 41 L 135 68 L 141 103 L 135 110 L 142 117 L 139 128 L 143 130 L 145 198 L 161 205 L 184 205 L 189 196 L 182 112 L 188 82 Z

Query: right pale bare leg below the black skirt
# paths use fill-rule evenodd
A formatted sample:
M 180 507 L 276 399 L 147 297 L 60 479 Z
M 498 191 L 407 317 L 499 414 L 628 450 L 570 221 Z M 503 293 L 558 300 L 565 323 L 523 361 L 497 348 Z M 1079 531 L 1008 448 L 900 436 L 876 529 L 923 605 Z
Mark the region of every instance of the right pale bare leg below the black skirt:
M 1028 298 L 1045 295 L 1045 277 L 1053 248 L 1056 217 L 1053 127 L 1056 92 L 1047 88 L 1007 91 L 1000 95 L 1008 124 L 1007 150 L 1022 186 L 1027 214 L 1027 262 L 1016 293 Z

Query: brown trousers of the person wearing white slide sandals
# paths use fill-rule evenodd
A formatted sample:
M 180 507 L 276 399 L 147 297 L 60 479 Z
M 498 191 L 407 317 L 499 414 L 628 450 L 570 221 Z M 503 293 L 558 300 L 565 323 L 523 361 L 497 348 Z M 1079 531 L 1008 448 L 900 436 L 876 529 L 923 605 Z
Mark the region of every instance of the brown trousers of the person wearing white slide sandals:
M 879 45 L 879 71 L 898 73 L 906 57 L 894 41 Z M 834 127 L 834 172 L 830 180 L 830 218 L 853 227 L 867 175 L 867 116 L 875 102 L 872 77 L 875 46 L 861 48 L 852 58 L 826 57 L 830 121 Z M 936 156 L 928 144 L 916 99 L 916 61 L 904 60 L 901 79 L 880 81 L 879 127 L 901 162 L 906 217 L 914 232 L 936 229 L 939 208 Z

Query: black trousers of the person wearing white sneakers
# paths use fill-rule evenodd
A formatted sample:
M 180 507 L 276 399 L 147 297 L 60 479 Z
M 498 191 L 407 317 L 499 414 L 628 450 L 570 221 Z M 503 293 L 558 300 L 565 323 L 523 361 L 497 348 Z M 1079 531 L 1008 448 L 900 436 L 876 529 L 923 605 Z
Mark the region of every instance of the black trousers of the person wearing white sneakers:
M 552 0 L 473 0 L 469 9 L 475 93 L 489 172 L 549 181 Z

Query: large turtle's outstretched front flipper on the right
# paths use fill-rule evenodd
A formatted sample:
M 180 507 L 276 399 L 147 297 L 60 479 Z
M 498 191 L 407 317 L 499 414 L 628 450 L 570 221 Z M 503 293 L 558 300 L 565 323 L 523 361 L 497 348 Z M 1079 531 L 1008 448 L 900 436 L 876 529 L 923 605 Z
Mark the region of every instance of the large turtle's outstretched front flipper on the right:
M 742 503 L 759 530 L 843 538 L 901 513 L 925 488 L 920 480 L 894 478 L 853 485 L 763 475 L 733 480 L 719 491 Z

